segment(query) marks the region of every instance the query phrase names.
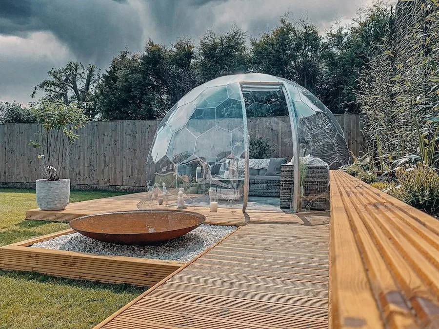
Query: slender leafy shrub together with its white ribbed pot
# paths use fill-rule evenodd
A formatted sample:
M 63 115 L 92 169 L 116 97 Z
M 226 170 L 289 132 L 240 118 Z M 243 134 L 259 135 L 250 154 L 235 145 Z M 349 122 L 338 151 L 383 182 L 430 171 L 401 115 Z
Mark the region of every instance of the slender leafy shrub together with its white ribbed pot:
M 41 99 L 30 110 L 40 124 L 37 140 L 30 144 L 41 152 L 41 172 L 45 178 L 37 179 L 37 204 L 41 210 L 62 210 L 69 203 L 70 179 L 61 179 L 61 169 L 78 139 L 78 130 L 88 118 L 76 104 L 61 100 Z

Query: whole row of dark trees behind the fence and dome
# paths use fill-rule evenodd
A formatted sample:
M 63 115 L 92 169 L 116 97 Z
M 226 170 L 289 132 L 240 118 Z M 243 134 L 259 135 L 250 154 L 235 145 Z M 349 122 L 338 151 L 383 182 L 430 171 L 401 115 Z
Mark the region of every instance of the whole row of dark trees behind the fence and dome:
M 389 15 L 377 3 L 353 24 L 335 21 L 323 33 L 309 19 L 285 14 L 278 27 L 257 38 L 233 25 L 222 33 L 209 30 L 197 42 L 183 37 L 166 46 L 150 39 L 140 53 L 121 51 L 102 75 L 79 62 L 52 69 L 32 96 L 41 90 L 45 98 L 74 101 L 91 118 L 160 119 L 201 83 L 260 72 L 299 83 L 333 113 L 357 113 L 358 78 L 380 51 Z

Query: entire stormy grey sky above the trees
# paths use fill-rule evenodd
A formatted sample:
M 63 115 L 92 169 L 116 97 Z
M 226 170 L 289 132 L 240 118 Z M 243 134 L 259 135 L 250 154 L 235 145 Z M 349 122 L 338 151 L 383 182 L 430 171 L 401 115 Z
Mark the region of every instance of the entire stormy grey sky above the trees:
M 102 70 L 120 50 L 151 38 L 169 44 L 233 23 L 257 37 L 279 17 L 307 15 L 323 31 L 371 0 L 0 0 L 0 101 L 27 104 L 52 67 L 69 60 Z M 37 95 L 40 96 L 40 95 Z

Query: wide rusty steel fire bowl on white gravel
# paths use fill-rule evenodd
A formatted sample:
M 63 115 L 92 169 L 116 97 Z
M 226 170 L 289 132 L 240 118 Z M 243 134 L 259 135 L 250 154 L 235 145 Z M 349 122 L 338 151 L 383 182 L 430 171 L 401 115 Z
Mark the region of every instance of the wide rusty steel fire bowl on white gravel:
M 168 241 L 200 226 L 206 217 L 178 210 L 138 210 L 99 213 L 71 220 L 76 232 L 92 239 L 123 245 Z

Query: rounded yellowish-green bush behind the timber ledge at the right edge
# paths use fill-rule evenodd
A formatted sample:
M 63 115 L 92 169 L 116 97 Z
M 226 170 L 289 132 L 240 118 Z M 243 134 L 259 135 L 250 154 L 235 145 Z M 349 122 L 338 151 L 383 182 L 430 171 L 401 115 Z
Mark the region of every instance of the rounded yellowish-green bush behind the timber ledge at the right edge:
M 439 210 L 439 174 L 434 168 L 422 163 L 407 165 L 399 168 L 396 176 L 399 186 L 390 189 L 390 194 L 428 213 Z

